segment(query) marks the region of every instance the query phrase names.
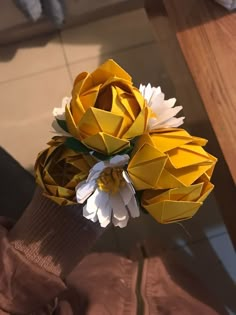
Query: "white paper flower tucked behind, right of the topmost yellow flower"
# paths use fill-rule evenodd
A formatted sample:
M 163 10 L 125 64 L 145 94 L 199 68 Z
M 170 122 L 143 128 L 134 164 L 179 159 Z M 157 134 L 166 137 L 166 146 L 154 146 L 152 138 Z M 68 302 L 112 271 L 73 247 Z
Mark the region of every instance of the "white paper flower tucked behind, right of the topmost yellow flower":
M 139 91 L 154 114 L 151 115 L 148 122 L 149 130 L 179 127 L 183 124 L 185 117 L 175 117 L 183 108 L 182 106 L 174 107 L 175 98 L 165 100 L 165 94 L 162 93 L 161 88 L 152 87 L 150 83 L 147 86 L 140 84 Z

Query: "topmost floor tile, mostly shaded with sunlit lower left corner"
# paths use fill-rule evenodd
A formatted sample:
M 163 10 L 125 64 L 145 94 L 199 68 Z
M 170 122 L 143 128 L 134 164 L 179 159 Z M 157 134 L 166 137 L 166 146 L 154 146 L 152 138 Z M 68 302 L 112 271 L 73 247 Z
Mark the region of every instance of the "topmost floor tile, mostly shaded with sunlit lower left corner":
M 143 9 L 62 32 L 68 62 L 99 56 L 154 39 Z

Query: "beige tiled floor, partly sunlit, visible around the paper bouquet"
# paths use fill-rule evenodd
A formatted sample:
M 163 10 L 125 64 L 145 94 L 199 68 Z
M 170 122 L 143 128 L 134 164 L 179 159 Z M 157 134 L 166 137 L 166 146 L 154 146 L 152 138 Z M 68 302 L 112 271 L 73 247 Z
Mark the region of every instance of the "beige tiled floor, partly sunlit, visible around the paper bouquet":
M 163 41 L 167 41 L 164 29 Z M 77 73 L 113 58 L 136 84 L 160 84 L 175 95 L 168 67 L 143 10 L 0 48 L 0 143 L 32 170 L 37 153 L 52 136 L 53 107 L 69 95 Z M 177 74 L 176 74 L 177 75 Z M 184 105 L 184 104 L 183 104 Z M 161 240 L 236 314 L 236 256 L 212 194 L 195 218 L 183 225 L 158 225 L 147 215 L 127 229 L 111 229 L 97 250 L 127 253 L 143 239 Z

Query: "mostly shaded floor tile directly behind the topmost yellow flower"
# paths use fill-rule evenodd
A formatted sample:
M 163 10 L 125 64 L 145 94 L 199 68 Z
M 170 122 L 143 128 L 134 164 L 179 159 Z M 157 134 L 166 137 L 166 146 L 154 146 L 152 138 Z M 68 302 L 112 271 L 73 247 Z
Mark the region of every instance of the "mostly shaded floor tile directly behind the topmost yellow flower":
M 73 78 L 82 71 L 93 71 L 106 59 L 118 62 L 133 77 L 136 86 L 140 83 L 160 85 L 164 92 L 173 96 L 174 87 L 163 66 L 159 47 L 156 43 L 144 44 L 118 53 L 108 53 L 69 65 Z

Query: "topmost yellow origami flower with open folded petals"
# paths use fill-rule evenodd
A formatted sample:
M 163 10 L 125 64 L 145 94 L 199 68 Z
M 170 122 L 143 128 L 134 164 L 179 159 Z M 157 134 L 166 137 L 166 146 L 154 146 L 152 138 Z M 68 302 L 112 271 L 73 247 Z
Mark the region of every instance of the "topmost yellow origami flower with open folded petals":
M 110 155 L 146 131 L 149 111 L 129 74 L 108 60 L 94 72 L 77 76 L 65 117 L 73 137 Z

